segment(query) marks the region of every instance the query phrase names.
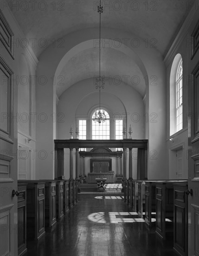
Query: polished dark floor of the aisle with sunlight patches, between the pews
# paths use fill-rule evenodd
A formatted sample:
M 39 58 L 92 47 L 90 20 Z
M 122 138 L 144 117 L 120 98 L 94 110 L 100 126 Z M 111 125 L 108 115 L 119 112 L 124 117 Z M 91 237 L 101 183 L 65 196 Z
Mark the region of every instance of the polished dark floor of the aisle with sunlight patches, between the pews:
M 79 202 L 26 256 L 176 256 L 173 240 L 162 242 L 154 229 L 125 205 L 121 196 L 79 195 Z

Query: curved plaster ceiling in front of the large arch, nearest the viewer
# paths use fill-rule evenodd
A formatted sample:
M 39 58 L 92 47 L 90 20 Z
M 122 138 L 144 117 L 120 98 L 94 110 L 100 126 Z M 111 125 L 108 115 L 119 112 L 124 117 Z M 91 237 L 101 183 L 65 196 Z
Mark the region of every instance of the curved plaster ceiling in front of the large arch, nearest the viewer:
M 6 1 L 10 6 L 12 2 L 18 3 L 19 7 L 13 5 L 12 11 L 27 39 L 52 40 L 77 30 L 90 27 L 98 29 L 99 27 L 99 14 L 96 11 L 99 1 L 27 0 L 21 3 L 15 0 Z M 102 0 L 104 6 L 102 31 L 103 27 L 117 28 L 130 34 L 133 33 L 142 39 L 156 38 L 158 50 L 161 54 L 165 54 L 174 34 L 190 11 L 191 1 Z M 148 2 L 148 7 L 146 7 L 146 2 Z M 33 50 L 39 57 L 44 49 L 45 47 L 36 45 Z

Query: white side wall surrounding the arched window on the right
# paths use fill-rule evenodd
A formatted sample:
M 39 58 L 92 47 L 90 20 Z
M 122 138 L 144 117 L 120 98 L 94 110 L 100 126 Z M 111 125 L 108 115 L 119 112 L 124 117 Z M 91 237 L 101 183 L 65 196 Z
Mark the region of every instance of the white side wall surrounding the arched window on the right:
M 188 20 L 188 19 L 187 19 Z M 191 19 L 192 20 L 192 19 Z M 187 21 L 189 22 L 189 21 Z M 167 178 L 172 179 L 176 175 L 176 170 L 173 168 L 172 162 L 172 152 L 176 151 L 180 145 L 183 148 L 183 179 L 188 178 L 188 59 L 187 59 L 187 50 L 190 50 L 191 45 L 188 44 L 189 36 L 186 29 L 186 21 L 181 27 L 181 30 L 173 42 L 173 46 L 169 50 L 166 58 L 166 88 L 167 88 L 167 155 L 166 161 L 169 163 L 169 173 Z M 183 128 L 177 133 L 170 134 L 170 75 L 173 60 L 177 54 L 181 54 L 183 61 Z M 173 142 L 169 139 L 173 138 Z

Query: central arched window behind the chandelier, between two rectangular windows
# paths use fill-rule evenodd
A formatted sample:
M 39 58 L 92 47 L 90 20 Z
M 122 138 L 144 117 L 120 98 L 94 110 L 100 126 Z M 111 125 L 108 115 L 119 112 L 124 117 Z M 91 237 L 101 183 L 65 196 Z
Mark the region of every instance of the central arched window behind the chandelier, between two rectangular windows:
M 93 121 L 94 113 L 92 115 L 92 140 L 109 140 L 110 139 L 110 120 L 109 114 L 105 109 L 101 109 L 106 115 L 106 121 L 98 122 Z

